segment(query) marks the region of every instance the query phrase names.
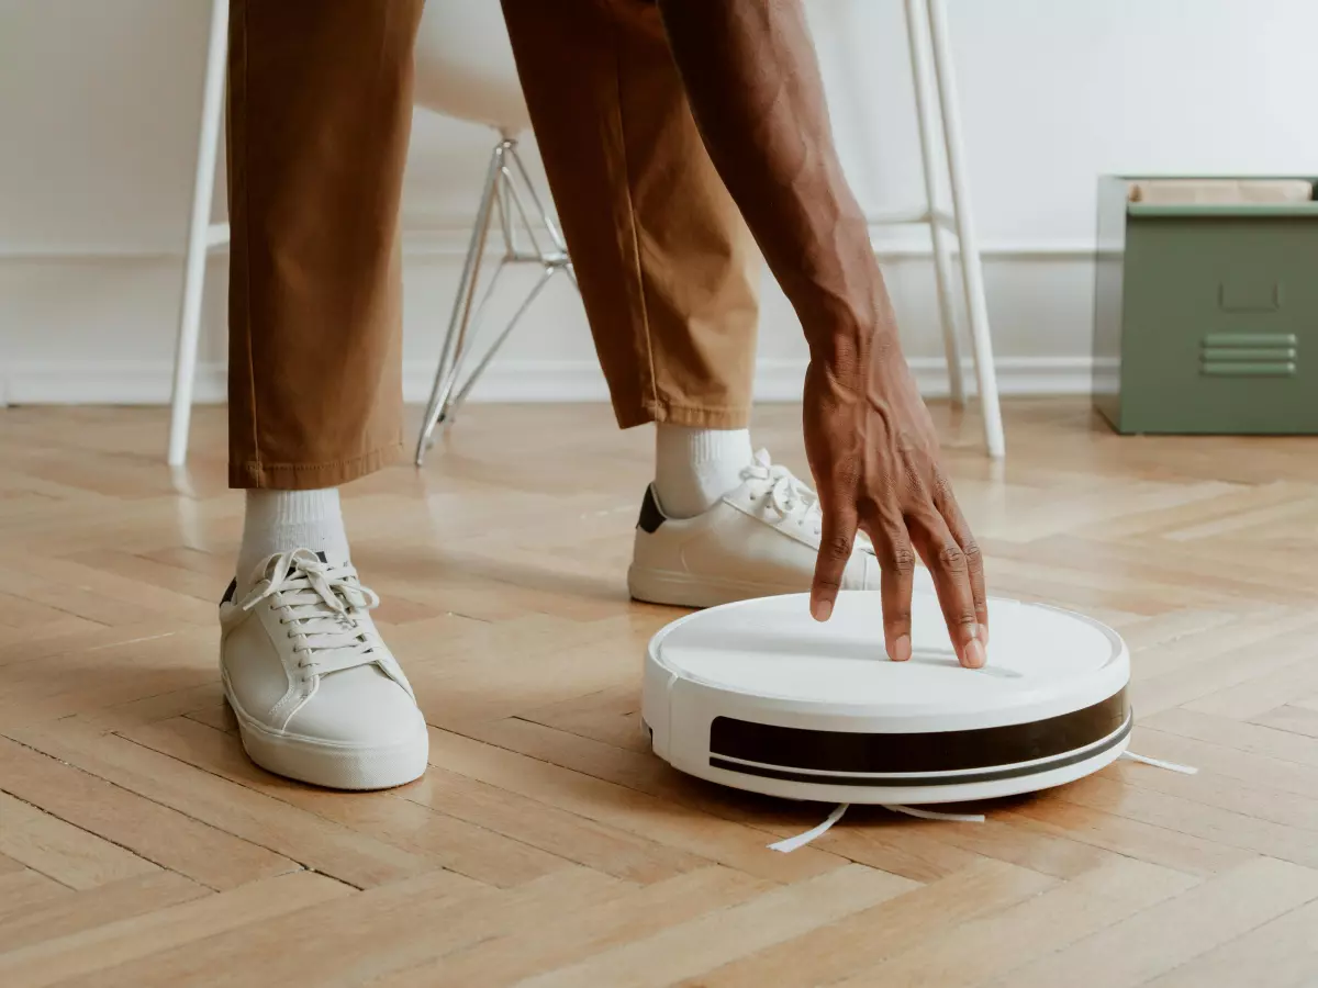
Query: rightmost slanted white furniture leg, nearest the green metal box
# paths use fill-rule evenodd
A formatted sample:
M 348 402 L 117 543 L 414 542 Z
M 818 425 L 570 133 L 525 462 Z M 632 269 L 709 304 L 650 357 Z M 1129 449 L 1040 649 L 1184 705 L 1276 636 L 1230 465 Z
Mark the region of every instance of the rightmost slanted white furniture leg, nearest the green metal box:
M 938 83 L 938 104 L 942 109 L 942 140 L 948 150 L 948 171 L 952 178 L 952 209 L 957 217 L 957 237 L 961 241 L 961 277 L 966 288 L 970 340 L 974 344 L 975 374 L 979 381 L 979 404 L 985 416 L 985 445 L 988 448 L 988 456 L 996 460 L 1004 457 L 1007 449 L 1002 431 L 1002 407 L 998 400 L 998 373 L 992 360 L 992 340 L 988 335 L 988 304 L 985 300 L 979 242 L 975 238 L 975 228 L 970 216 L 970 186 L 966 179 L 965 150 L 961 146 L 956 74 L 948 51 L 948 18 L 944 0 L 920 1 L 928 4 L 933 66 Z

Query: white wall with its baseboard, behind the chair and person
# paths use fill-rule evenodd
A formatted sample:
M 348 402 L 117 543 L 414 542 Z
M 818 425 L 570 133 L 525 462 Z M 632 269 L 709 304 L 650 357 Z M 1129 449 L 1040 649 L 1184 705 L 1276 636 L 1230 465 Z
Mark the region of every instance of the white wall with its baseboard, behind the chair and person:
M 493 3 L 494 0 L 490 0 Z M 921 199 L 900 0 L 809 0 L 861 200 Z M 1313 0 L 949 0 L 1004 390 L 1087 386 L 1095 177 L 1318 175 Z M 163 400 L 207 0 L 0 0 L 0 402 Z M 488 141 L 419 115 L 405 202 L 409 397 L 426 387 Z M 921 236 L 884 232 L 907 350 L 938 382 Z M 224 257 L 200 395 L 223 393 Z M 760 393 L 796 393 L 799 328 L 770 288 Z M 602 395 L 559 286 L 496 364 L 536 397 Z

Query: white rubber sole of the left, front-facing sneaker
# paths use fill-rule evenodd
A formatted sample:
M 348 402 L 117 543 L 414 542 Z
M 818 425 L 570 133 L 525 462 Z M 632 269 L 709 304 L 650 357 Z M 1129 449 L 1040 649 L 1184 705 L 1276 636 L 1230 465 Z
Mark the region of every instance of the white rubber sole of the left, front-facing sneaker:
M 224 698 L 239 722 L 248 757 L 266 772 L 327 789 L 393 789 L 420 779 L 430 759 L 430 734 L 422 723 L 413 738 L 380 747 L 335 744 L 272 731 L 243 710 L 224 682 Z

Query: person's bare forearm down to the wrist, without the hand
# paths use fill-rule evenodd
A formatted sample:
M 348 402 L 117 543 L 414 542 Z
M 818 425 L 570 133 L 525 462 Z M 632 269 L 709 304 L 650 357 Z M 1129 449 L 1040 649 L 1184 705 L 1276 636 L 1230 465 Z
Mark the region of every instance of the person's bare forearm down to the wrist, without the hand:
M 869 224 L 833 145 L 799 0 L 659 0 L 705 146 L 800 316 L 812 357 L 862 373 L 895 340 Z

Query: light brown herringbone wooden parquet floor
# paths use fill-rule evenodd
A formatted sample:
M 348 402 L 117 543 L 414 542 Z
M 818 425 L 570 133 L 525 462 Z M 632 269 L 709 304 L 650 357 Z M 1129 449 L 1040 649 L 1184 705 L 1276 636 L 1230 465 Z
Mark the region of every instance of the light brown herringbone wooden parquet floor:
M 0 985 L 1318 985 L 1318 441 L 937 410 L 990 589 L 1135 656 L 1119 764 L 987 822 L 680 777 L 643 748 L 623 573 L 650 433 L 472 407 L 352 485 L 355 561 L 430 723 L 384 794 L 253 768 L 216 676 L 241 499 L 221 410 L 0 411 Z M 757 440 L 803 466 L 799 412 Z

